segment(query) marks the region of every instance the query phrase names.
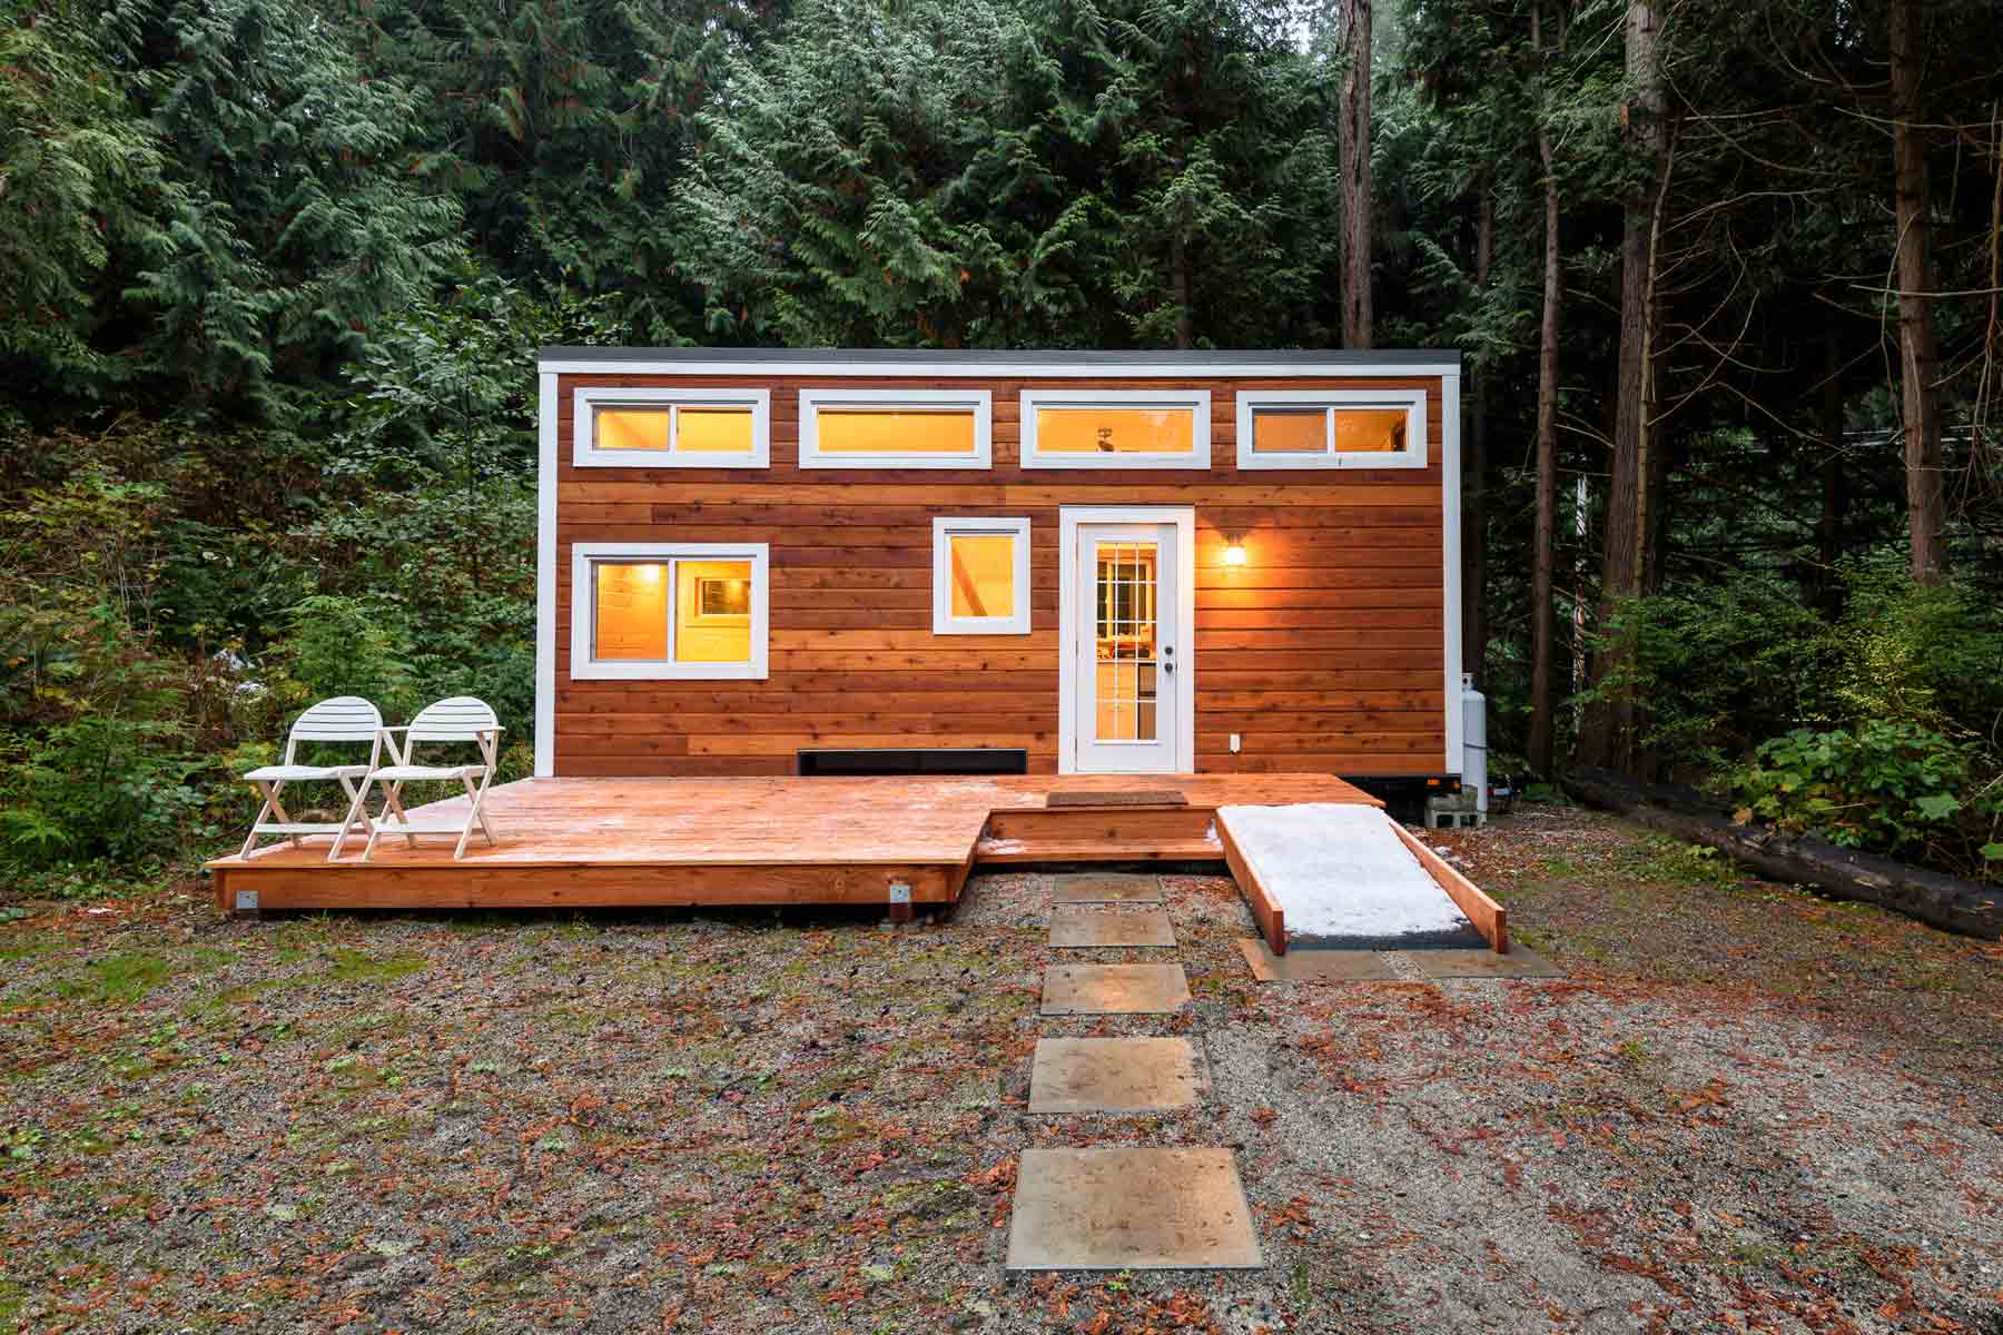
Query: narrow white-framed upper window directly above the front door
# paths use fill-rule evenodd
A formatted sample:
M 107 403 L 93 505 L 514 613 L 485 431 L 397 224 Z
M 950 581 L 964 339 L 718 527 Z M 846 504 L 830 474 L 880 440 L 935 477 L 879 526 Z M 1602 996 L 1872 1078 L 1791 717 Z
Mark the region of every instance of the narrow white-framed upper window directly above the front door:
M 1024 468 L 1208 468 L 1210 390 L 1024 390 Z

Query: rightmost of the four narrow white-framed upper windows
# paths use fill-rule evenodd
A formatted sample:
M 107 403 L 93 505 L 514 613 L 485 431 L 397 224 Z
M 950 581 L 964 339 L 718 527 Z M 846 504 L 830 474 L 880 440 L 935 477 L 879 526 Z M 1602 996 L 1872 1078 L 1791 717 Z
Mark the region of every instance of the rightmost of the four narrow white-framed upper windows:
M 1240 468 L 1424 468 L 1426 390 L 1240 390 Z

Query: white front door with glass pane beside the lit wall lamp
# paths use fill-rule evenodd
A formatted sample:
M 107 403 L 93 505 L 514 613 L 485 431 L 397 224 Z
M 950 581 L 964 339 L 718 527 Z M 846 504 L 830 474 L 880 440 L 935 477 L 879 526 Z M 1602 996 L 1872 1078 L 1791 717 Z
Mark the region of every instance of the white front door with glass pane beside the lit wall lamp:
M 1194 769 L 1188 510 L 1066 510 L 1066 769 Z

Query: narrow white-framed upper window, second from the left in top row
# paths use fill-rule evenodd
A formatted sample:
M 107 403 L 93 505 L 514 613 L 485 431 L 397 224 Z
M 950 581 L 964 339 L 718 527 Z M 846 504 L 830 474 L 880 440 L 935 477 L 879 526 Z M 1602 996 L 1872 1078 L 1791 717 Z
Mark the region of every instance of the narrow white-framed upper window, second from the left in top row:
M 987 390 L 799 390 L 801 468 L 985 468 Z

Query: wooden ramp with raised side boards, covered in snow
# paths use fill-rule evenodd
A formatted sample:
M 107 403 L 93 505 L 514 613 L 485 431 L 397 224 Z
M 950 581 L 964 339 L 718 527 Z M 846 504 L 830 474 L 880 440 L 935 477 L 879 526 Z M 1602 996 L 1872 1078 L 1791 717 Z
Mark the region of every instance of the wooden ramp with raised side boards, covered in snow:
M 1508 919 L 1382 811 L 1336 803 L 1226 805 L 1218 841 L 1260 935 L 1338 949 L 1508 951 Z M 1476 939 L 1478 935 L 1478 939 Z

